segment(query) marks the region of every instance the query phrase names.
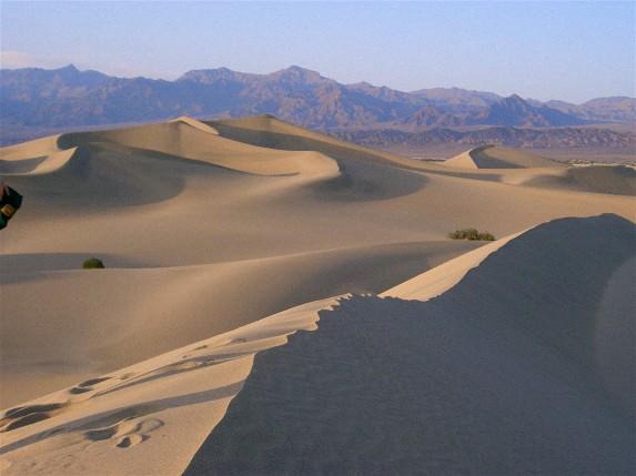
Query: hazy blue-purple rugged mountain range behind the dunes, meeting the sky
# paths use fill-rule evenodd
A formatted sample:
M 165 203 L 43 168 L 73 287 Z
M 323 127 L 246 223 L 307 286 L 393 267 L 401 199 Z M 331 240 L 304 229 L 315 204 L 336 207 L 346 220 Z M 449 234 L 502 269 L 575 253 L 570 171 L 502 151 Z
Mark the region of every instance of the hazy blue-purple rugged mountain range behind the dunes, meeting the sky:
M 636 121 L 634 98 L 572 104 L 458 88 L 404 92 L 366 82 L 342 84 L 295 65 L 270 74 L 194 70 L 174 81 L 114 78 L 73 65 L 27 68 L 0 70 L 0 85 L 3 143 L 33 131 L 161 121 L 182 114 L 206 119 L 267 113 L 337 133 Z

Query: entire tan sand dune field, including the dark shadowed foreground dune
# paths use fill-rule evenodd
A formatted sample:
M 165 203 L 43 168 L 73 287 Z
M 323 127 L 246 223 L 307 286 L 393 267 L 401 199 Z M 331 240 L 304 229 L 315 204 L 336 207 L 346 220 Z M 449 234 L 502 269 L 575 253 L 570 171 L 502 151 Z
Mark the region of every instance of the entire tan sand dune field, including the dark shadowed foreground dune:
M 0 176 L 3 476 L 636 470 L 630 168 L 264 115 L 46 138 Z

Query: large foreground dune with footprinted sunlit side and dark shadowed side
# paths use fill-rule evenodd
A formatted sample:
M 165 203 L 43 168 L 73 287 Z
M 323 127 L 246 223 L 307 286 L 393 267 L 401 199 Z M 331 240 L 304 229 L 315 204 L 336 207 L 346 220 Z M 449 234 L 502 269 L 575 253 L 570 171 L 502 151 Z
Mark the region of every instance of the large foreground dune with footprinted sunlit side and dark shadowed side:
M 615 215 L 557 220 L 383 300 L 301 305 L 9 408 L 0 457 L 7 474 L 628 473 L 634 347 L 598 323 L 636 323 L 598 304 L 635 240 Z M 423 302 L 440 270 L 463 277 Z

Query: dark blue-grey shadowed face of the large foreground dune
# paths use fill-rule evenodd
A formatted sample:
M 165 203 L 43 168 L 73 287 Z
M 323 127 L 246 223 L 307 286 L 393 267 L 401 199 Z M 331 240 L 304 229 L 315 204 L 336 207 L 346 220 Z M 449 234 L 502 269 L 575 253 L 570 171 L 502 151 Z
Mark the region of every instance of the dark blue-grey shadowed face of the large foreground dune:
M 595 327 L 635 240 L 615 215 L 556 220 L 432 301 L 321 312 L 317 332 L 256 355 L 185 474 L 629 474 L 636 425 Z

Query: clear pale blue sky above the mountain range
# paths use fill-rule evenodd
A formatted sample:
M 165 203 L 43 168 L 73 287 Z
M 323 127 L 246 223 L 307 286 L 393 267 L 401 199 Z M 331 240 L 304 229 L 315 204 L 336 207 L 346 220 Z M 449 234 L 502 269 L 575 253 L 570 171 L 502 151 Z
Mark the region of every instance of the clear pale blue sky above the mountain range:
M 175 79 L 292 64 L 342 83 L 538 100 L 636 95 L 636 2 L 0 0 L 7 69 Z

